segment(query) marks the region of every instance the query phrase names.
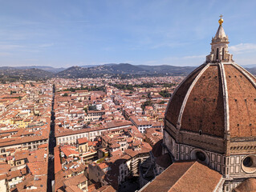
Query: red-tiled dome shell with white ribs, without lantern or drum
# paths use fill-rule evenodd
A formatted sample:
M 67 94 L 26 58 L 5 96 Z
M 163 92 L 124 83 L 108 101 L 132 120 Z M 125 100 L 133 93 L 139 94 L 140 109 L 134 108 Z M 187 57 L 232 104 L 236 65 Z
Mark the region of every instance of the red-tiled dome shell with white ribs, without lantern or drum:
M 214 137 L 256 137 L 256 79 L 234 62 L 205 63 L 177 87 L 165 121 Z

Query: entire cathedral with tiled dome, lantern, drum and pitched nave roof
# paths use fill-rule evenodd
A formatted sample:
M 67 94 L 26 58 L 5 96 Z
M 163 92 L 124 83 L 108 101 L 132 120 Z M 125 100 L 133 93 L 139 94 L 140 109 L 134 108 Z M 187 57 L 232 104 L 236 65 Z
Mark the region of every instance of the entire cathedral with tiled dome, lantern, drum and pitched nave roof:
M 234 62 L 218 22 L 205 63 L 169 100 L 153 179 L 140 191 L 256 191 L 256 78 Z

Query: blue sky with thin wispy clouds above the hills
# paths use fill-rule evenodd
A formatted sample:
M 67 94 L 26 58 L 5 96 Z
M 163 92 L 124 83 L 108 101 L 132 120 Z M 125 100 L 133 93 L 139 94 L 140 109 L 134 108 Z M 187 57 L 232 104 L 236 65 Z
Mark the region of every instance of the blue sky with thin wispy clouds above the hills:
M 0 0 L 0 66 L 199 66 L 224 15 L 230 53 L 256 64 L 256 1 Z

